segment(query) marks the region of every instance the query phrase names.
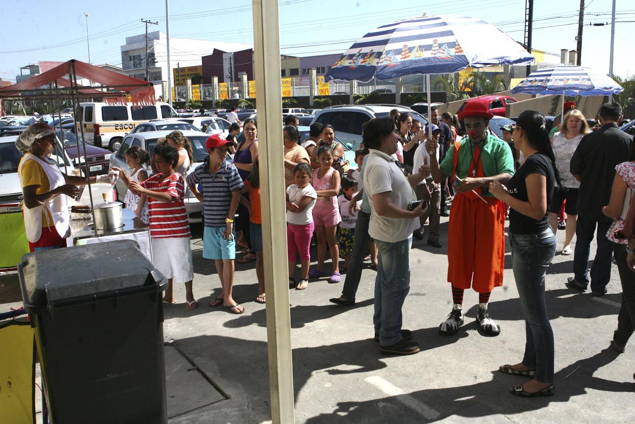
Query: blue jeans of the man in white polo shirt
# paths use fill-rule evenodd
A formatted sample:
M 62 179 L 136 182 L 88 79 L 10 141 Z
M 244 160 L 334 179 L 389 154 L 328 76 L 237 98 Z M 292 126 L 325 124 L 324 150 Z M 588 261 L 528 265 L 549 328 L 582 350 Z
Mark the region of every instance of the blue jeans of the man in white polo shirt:
M 377 243 L 375 315 L 373 324 L 382 346 L 401 341 L 401 307 L 410 291 L 410 246 L 412 236 L 396 243 Z

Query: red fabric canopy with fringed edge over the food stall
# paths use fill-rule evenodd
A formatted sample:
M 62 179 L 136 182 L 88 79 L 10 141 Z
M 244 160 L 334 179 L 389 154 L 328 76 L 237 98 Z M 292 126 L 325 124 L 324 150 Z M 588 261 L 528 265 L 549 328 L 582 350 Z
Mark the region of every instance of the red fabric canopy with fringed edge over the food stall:
M 66 76 L 68 79 L 64 78 Z M 78 76 L 99 85 L 78 85 Z M 41 88 L 46 85 L 50 87 Z M 154 104 L 154 87 L 151 83 L 72 59 L 26 81 L 0 88 L 0 116 L 4 115 L 4 99 L 79 100 L 100 97 L 112 104 L 125 104 L 128 102 L 126 95 L 130 96 L 130 102 L 134 106 Z

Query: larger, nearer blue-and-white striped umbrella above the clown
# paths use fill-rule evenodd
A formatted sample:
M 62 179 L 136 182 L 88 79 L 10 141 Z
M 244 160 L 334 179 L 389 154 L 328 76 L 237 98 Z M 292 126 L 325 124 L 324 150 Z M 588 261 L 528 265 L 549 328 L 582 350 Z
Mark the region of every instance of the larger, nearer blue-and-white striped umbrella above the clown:
M 367 82 L 412 74 L 445 74 L 467 67 L 534 62 L 514 39 L 476 18 L 424 16 L 382 25 L 338 58 L 324 81 Z

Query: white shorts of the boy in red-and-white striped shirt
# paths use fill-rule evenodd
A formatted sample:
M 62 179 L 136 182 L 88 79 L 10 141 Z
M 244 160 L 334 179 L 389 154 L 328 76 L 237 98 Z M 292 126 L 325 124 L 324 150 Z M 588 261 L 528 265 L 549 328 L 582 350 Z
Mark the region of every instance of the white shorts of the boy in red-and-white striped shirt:
M 173 283 L 194 280 L 189 237 L 152 238 L 152 261 L 165 278 L 173 278 Z

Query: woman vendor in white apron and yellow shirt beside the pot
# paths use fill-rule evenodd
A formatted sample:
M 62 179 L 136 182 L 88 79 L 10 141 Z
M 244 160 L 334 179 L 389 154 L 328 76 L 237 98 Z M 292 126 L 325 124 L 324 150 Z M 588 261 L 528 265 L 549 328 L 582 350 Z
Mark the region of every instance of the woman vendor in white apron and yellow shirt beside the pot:
M 56 161 L 55 130 L 46 123 L 30 125 L 15 144 L 24 153 L 18 165 L 22 186 L 24 226 L 31 252 L 65 247 L 70 234 L 67 196 L 77 196 L 85 177 L 62 174 Z M 107 175 L 103 175 L 107 178 Z M 90 177 L 95 182 L 96 177 Z

